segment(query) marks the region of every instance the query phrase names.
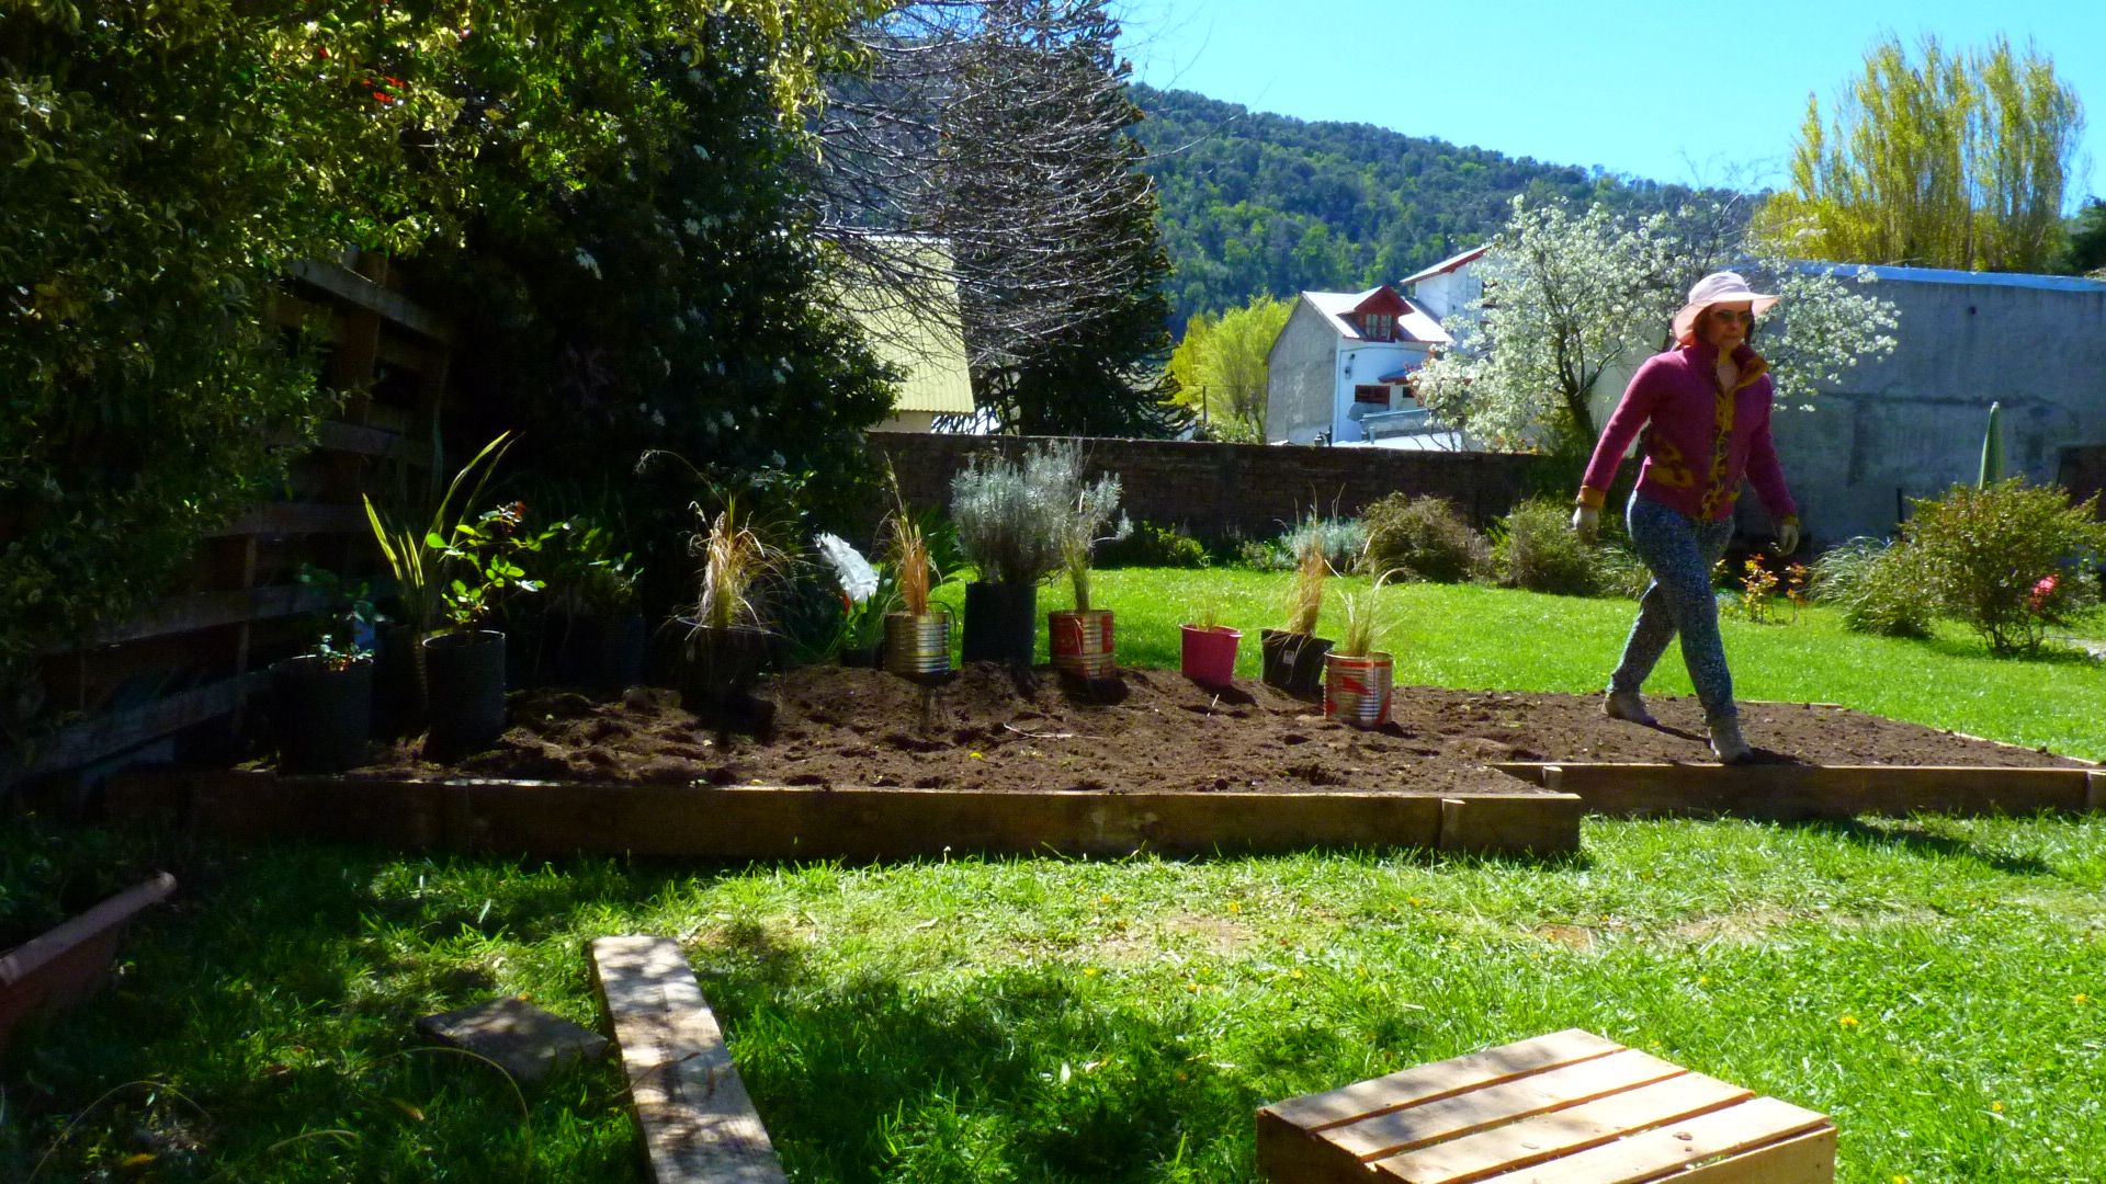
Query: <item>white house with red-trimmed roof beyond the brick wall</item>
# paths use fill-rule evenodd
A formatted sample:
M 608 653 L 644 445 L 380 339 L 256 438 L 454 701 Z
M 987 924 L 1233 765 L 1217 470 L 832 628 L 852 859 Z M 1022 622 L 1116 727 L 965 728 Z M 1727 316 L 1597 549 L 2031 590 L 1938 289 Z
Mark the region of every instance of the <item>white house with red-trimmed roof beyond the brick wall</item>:
M 1409 383 L 1411 371 L 1447 343 L 1441 322 L 1390 284 L 1365 293 L 1302 293 L 1266 354 L 1266 440 L 1379 445 L 1388 436 L 1445 432 L 1426 423 Z

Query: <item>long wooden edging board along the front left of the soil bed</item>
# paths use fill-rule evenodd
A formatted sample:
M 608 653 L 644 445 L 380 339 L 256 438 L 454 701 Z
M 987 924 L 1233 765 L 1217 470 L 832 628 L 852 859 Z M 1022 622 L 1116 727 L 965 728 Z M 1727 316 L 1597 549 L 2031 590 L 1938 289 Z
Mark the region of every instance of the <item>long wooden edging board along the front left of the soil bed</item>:
M 1518 794 L 969 792 L 280 777 L 135 771 L 114 817 L 230 838 L 307 836 L 529 855 L 912 860 L 1419 847 L 1556 855 L 1582 803 Z

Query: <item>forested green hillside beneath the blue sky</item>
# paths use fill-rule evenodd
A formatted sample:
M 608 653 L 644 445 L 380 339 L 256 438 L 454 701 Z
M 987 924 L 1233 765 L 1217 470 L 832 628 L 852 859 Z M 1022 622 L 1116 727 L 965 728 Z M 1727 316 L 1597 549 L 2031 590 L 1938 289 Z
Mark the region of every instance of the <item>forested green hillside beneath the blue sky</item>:
M 1687 194 L 1373 124 L 1304 122 L 1133 84 L 1163 198 L 1171 324 L 1268 293 L 1360 291 L 1489 238 L 1518 192 L 1653 209 Z

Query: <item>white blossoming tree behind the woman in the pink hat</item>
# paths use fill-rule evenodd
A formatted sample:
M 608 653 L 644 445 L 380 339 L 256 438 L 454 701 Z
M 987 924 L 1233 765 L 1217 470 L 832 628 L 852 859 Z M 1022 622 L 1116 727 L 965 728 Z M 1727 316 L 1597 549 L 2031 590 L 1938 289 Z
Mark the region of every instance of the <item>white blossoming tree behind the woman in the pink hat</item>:
M 1864 289 L 1870 272 L 1750 257 L 1735 213 L 1706 200 L 1630 219 L 1516 196 L 1478 261 L 1485 295 L 1449 318 L 1455 348 L 1419 369 L 1419 400 L 1493 447 L 1584 453 L 1594 383 L 1666 348 L 1689 284 L 1723 268 L 1784 297 L 1759 343 L 1784 407 L 1893 352 L 1893 303 Z

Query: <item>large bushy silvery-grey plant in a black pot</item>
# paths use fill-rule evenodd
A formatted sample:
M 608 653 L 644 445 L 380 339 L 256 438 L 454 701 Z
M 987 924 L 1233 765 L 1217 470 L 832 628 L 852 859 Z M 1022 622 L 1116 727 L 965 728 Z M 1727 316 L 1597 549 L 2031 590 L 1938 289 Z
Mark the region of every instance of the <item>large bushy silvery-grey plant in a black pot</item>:
M 1017 461 L 975 455 L 950 480 L 958 550 L 979 575 L 965 586 L 962 662 L 1032 664 L 1038 584 L 1061 569 L 1078 468 L 1072 442 L 1034 445 Z

